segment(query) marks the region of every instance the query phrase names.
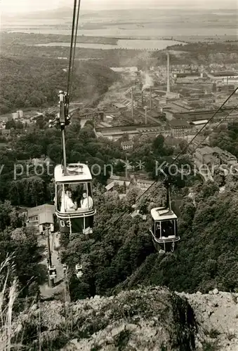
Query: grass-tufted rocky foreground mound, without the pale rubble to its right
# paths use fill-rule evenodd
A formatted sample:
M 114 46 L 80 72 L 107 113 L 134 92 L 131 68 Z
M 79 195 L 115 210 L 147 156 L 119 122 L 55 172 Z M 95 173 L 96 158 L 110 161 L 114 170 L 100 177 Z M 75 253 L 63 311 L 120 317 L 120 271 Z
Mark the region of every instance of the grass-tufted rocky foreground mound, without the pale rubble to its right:
M 20 316 L 18 332 L 30 330 L 34 335 L 39 313 L 42 350 L 195 350 L 192 308 L 186 298 L 166 288 L 94 296 L 68 305 L 44 302 Z M 37 347 L 35 334 L 31 345 Z

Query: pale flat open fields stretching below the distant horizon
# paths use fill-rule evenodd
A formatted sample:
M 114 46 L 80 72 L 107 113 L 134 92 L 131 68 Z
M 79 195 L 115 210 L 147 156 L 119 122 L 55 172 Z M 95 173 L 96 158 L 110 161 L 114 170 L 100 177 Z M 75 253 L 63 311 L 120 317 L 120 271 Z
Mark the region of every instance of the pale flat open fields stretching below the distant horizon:
M 57 11 L 46 13 L 44 17 L 41 13 L 41 15 L 28 15 L 25 18 L 3 18 L 1 30 L 70 35 L 71 18 L 72 10 L 70 9 L 60 13 Z M 215 39 L 219 41 L 237 40 L 237 22 L 235 11 L 222 13 L 186 8 L 98 11 L 81 15 L 79 36 L 116 39 L 173 39 L 186 42 Z

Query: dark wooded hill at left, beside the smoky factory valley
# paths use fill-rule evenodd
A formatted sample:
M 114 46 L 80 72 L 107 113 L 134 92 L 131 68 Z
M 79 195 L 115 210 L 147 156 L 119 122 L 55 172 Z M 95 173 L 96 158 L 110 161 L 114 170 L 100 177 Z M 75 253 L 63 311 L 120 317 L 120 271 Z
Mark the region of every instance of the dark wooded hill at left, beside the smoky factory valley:
M 24 49 L 26 50 L 26 48 Z M 0 114 L 26 107 L 46 107 L 58 102 L 66 90 L 67 62 L 47 58 L 0 58 Z M 117 79 L 111 69 L 97 63 L 75 62 L 72 99 L 98 98 Z

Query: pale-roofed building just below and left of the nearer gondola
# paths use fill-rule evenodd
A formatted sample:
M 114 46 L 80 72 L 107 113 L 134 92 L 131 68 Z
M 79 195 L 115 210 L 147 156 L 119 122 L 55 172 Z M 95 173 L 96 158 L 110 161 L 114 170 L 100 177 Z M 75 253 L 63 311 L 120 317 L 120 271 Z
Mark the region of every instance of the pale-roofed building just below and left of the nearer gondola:
M 44 204 L 37 207 L 29 208 L 27 211 L 27 227 L 37 227 L 39 233 L 43 233 L 46 224 L 50 225 L 51 232 L 54 231 L 54 214 L 55 206 Z

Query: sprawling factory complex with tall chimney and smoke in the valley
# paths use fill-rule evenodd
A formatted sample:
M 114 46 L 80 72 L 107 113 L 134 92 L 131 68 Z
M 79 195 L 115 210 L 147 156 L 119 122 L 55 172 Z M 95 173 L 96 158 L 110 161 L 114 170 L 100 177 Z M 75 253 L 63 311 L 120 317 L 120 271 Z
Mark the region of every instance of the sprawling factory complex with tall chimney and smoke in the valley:
M 228 70 L 227 70 L 228 68 Z M 93 120 L 98 137 L 119 140 L 127 134 L 189 139 L 213 116 L 221 102 L 238 84 L 238 65 L 194 67 L 171 65 L 150 67 L 112 67 L 121 74 L 125 88 L 115 88 L 96 110 L 77 112 L 81 126 Z M 237 95 L 216 114 L 213 125 L 238 119 L 233 112 Z

